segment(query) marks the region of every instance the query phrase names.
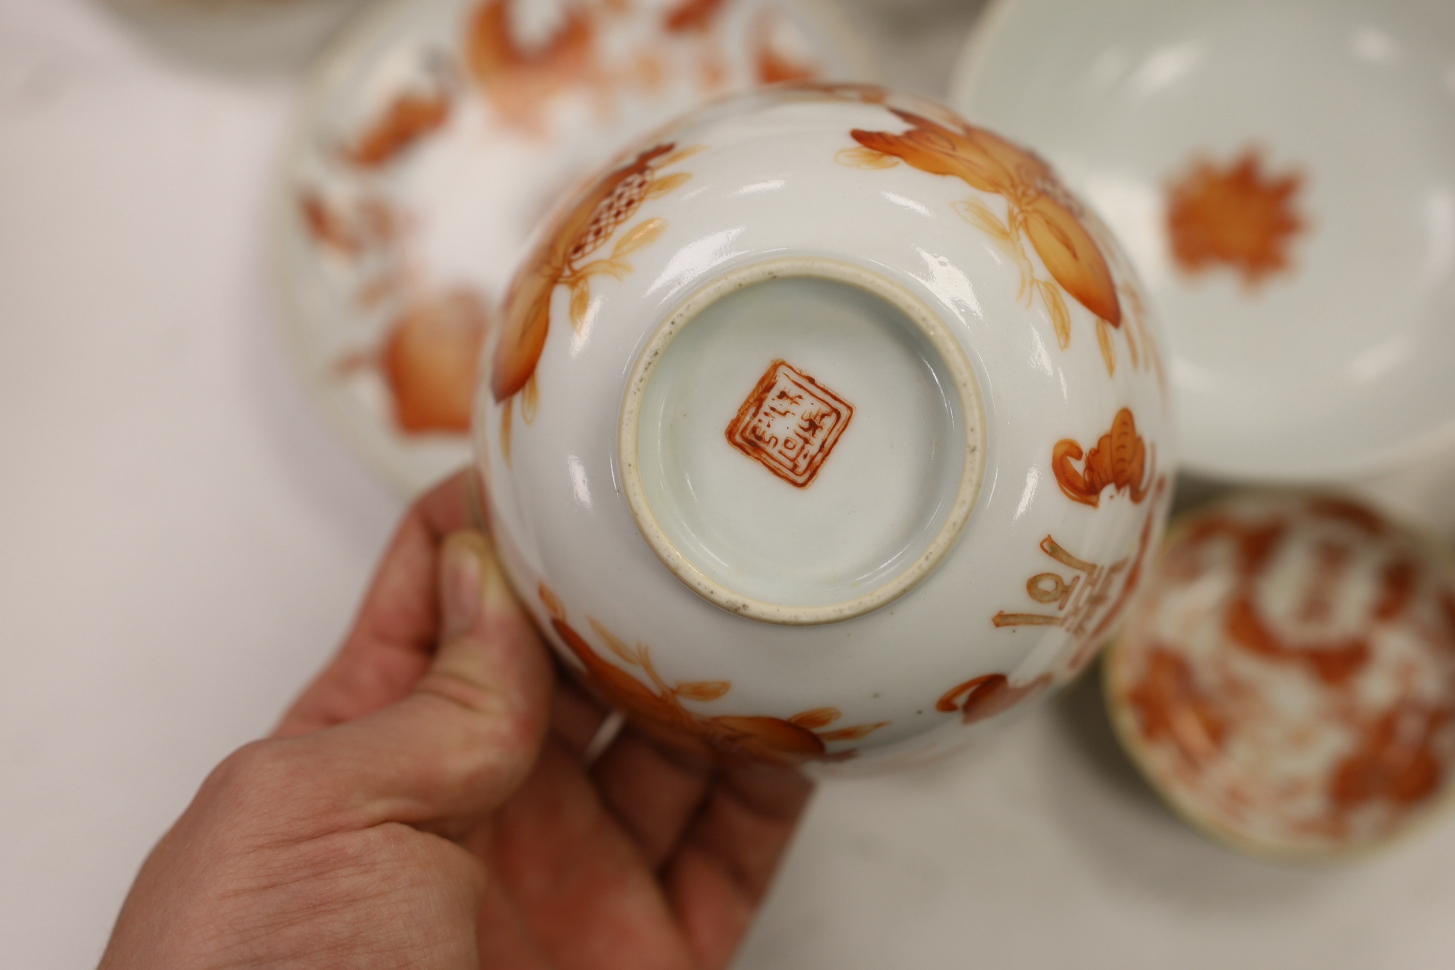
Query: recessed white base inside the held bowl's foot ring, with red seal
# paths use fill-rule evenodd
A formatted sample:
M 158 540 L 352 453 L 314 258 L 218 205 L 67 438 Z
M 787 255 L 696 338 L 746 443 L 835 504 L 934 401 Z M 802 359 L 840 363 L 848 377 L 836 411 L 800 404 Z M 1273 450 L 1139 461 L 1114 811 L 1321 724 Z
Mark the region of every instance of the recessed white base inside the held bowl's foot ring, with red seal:
M 886 586 L 933 567 L 973 497 L 968 364 L 841 278 L 768 268 L 722 289 L 645 380 L 647 531 L 725 598 L 824 621 L 888 602 Z

